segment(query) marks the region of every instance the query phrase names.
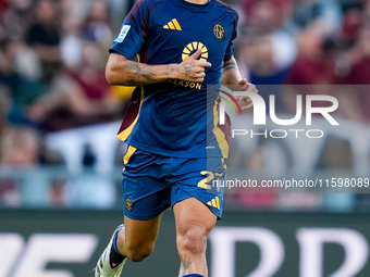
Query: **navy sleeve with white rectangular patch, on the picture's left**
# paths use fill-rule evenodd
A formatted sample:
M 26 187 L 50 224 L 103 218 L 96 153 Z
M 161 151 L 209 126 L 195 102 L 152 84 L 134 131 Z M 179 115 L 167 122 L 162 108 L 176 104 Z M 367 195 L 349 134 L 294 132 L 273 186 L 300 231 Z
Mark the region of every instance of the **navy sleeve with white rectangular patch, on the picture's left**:
M 128 60 L 134 60 L 141 49 L 148 30 L 148 1 L 136 2 L 124 20 L 109 52 L 118 52 Z

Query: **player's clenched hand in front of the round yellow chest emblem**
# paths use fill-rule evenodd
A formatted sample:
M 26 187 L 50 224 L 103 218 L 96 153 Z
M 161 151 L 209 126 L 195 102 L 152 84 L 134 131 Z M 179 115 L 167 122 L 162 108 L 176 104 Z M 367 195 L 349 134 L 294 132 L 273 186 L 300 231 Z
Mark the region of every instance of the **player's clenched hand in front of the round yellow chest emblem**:
M 178 79 L 202 83 L 206 77 L 206 67 L 211 67 L 209 62 L 197 60 L 201 54 L 201 49 L 199 48 L 194 54 L 178 64 Z

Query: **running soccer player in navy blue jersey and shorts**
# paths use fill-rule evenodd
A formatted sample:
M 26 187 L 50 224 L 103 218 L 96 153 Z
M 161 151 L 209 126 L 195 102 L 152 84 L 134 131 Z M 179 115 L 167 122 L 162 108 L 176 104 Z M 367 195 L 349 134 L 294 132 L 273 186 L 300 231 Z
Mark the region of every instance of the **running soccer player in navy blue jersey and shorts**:
M 170 206 L 178 276 L 208 276 L 207 238 L 223 202 L 210 184 L 225 173 L 229 135 L 218 125 L 218 91 L 207 86 L 256 92 L 233 58 L 237 21 L 218 0 L 139 0 L 125 18 L 106 71 L 111 85 L 137 86 L 119 133 L 128 144 L 124 225 L 114 230 L 96 277 L 121 276 L 127 259 L 150 255 Z

